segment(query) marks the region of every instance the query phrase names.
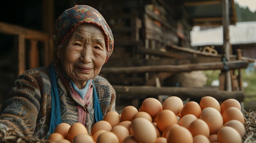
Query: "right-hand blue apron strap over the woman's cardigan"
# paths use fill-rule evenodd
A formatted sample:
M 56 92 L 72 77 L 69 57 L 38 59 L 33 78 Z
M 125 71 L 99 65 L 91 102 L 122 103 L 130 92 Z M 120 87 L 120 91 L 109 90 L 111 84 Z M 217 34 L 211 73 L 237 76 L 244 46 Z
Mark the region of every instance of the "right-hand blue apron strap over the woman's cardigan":
M 96 122 L 98 122 L 103 119 L 103 116 L 102 116 L 101 106 L 99 105 L 99 99 L 98 99 L 98 95 L 97 95 L 93 80 L 92 80 L 92 85 L 93 85 L 92 94 L 93 94 L 94 119 Z

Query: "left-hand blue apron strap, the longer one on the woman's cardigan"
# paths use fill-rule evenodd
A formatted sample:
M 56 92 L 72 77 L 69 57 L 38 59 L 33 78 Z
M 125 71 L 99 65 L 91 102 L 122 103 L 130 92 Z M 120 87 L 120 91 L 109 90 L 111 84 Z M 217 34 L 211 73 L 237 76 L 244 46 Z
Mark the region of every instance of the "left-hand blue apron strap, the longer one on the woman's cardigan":
M 61 119 L 61 106 L 60 106 L 60 99 L 58 95 L 58 86 L 57 86 L 57 79 L 55 75 L 55 70 L 53 64 L 51 63 L 48 67 L 48 72 L 52 84 L 52 109 L 51 109 L 51 121 L 49 126 L 49 132 L 47 134 L 46 139 L 48 139 L 49 135 L 52 134 L 56 128 L 56 126 L 62 123 Z

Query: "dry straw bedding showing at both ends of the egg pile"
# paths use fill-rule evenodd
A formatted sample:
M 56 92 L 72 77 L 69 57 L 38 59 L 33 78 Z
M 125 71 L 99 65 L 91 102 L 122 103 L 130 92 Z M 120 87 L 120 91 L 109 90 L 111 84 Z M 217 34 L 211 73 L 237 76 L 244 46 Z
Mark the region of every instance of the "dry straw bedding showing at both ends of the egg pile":
M 245 116 L 245 136 L 243 143 L 255 143 L 256 141 L 256 111 L 244 111 Z M 35 137 L 20 136 L 14 130 L 0 130 L 1 143 L 49 143 L 49 140 L 37 139 Z

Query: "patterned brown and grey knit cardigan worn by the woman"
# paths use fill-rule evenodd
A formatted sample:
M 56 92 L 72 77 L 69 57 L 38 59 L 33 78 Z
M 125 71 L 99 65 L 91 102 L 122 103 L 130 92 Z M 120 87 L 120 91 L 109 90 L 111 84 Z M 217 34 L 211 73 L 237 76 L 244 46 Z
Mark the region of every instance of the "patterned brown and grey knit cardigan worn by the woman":
M 54 67 L 56 67 L 56 62 L 54 62 Z M 64 123 L 72 125 L 78 122 L 77 106 L 79 105 L 73 99 L 71 89 L 65 88 L 62 84 L 58 70 L 55 71 L 61 104 L 61 118 Z M 104 117 L 106 112 L 115 110 L 115 90 L 101 76 L 94 77 L 93 81 Z M 13 88 L 3 103 L 2 114 L 0 114 L 0 129 L 12 129 L 21 136 L 44 138 L 49 131 L 51 101 L 51 81 L 47 67 L 25 71 L 14 81 Z M 90 117 L 86 128 L 90 134 L 95 121 L 94 112 L 88 112 Z

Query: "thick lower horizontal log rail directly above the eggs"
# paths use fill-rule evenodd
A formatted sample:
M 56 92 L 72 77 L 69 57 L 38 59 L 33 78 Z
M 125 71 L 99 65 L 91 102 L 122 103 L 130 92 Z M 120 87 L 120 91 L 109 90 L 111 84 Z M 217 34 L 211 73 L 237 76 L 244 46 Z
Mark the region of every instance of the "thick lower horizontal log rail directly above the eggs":
M 204 96 L 212 96 L 217 100 L 236 99 L 243 101 L 243 91 L 221 91 L 213 88 L 199 88 L 199 87 L 161 87 L 155 86 L 113 86 L 117 94 L 126 96 L 155 96 L 157 95 L 171 95 L 178 97 L 193 97 L 200 98 Z

